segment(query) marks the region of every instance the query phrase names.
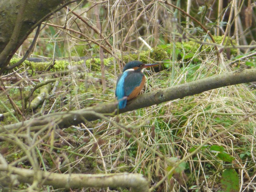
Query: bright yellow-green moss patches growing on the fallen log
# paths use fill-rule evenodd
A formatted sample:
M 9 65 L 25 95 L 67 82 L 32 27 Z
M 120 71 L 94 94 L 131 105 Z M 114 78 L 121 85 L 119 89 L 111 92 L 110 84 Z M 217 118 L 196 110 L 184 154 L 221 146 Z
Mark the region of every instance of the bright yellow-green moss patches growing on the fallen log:
M 223 36 L 213 36 L 214 40 L 216 41 L 216 44 L 221 44 L 223 40 Z M 209 38 L 208 38 L 209 39 Z M 207 41 L 208 41 L 207 39 Z M 209 39 L 209 42 L 212 43 L 211 39 Z M 224 41 L 225 46 L 231 46 L 231 45 L 236 45 L 236 41 L 234 39 L 231 39 L 230 37 L 226 37 Z M 185 51 L 186 57 L 184 59 L 190 59 L 193 57 L 193 55 L 198 51 L 200 48 L 201 44 L 196 43 L 194 41 L 188 41 L 188 42 L 176 42 L 175 47 L 176 47 L 176 56 L 177 58 L 184 58 L 184 53 L 181 50 Z M 167 44 L 167 45 L 159 45 L 158 47 L 152 49 L 152 50 L 146 50 L 146 51 L 140 51 L 139 54 L 128 54 L 124 55 L 122 59 L 124 60 L 125 63 L 131 61 L 131 60 L 140 60 L 144 63 L 148 62 L 155 62 L 155 61 L 163 61 L 168 58 L 170 53 L 172 52 L 172 44 Z M 211 52 L 213 48 L 213 45 L 203 45 L 202 49 L 204 49 L 205 52 Z M 226 49 L 223 50 L 224 52 Z M 230 49 L 230 54 L 231 55 L 236 55 L 237 54 L 237 49 L 231 48 Z M 198 57 L 202 57 L 199 59 L 204 59 L 204 55 L 200 55 Z M 20 58 L 12 58 L 10 61 L 10 64 L 14 64 L 17 61 L 19 61 Z M 110 57 L 107 59 L 104 59 L 104 65 L 105 66 L 110 66 L 111 63 L 113 62 L 114 58 Z M 150 60 L 150 61 L 148 61 Z M 198 59 L 196 59 L 198 60 Z M 196 61 L 194 60 L 194 61 Z M 81 61 L 76 61 L 72 62 L 74 65 L 81 65 L 84 63 L 84 60 Z M 31 62 L 28 60 L 25 60 L 23 62 L 26 66 L 29 66 L 30 69 L 28 69 L 29 74 L 32 74 L 33 71 L 43 71 L 47 69 L 51 62 Z M 85 61 L 85 64 L 87 68 L 90 68 L 92 71 L 100 71 L 100 58 L 92 58 L 88 59 Z M 67 70 L 67 66 L 69 65 L 69 62 L 67 60 L 56 60 L 55 64 L 53 65 L 53 68 L 51 71 L 60 71 L 60 70 Z

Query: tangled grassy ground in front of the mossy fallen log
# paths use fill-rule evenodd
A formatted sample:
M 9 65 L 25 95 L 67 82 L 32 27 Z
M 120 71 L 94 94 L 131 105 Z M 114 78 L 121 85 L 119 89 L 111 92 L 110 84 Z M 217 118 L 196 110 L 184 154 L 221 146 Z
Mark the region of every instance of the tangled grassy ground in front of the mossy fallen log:
M 205 57 L 204 62 L 188 59 L 186 63 L 172 63 L 174 70 L 148 70 L 144 92 L 234 70 L 228 65 L 228 60 L 221 60 L 217 66 L 213 55 L 201 52 L 197 58 L 202 57 Z M 48 114 L 75 110 L 114 100 L 116 76 L 111 71 L 107 70 L 107 89 L 104 92 L 100 84 L 101 74 L 97 70 L 78 69 L 60 73 L 58 80 L 52 83 L 52 87 L 55 87 L 54 96 L 32 113 L 24 113 L 25 117 L 33 118 L 40 111 Z M 20 89 L 12 83 L 7 81 L 5 86 L 13 100 L 20 100 L 17 105 L 21 107 L 22 99 L 31 91 L 32 84 L 22 82 L 20 94 Z M 37 91 L 34 97 L 36 94 Z M 4 102 L 4 97 L 2 94 L 2 105 L 11 110 L 9 101 Z M 109 118 L 131 134 L 106 120 L 84 122 L 63 130 L 49 129 L 48 135 L 37 136 L 36 159 L 40 167 L 50 172 L 142 173 L 153 186 L 176 162 L 205 140 L 235 125 L 226 134 L 207 142 L 198 153 L 180 164 L 156 191 L 217 191 L 221 188 L 222 172 L 227 168 L 236 170 L 232 174 L 239 174 L 240 183 L 243 183 L 241 188 L 247 186 L 252 189 L 256 168 L 256 118 L 243 118 L 255 110 L 255 99 L 255 90 L 250 90 L 247 84 L 239 84 Z M 2 109 L 3 112 L 6 111 Z M 15 118 L 9 116 L 1 124 L 12 122 L 15 122 Z M 14 137 L 17 133 L 10 134 Z M 1 141 L 0 149 L 8 163 L 22 168 L 31 166 L 28 161 L 20 160 L 26 153 L 17 144 Z M 165 158 L 159 157 L 158 153 Z M 26 185 L 20 184 L 18 188 L 26 188 Z

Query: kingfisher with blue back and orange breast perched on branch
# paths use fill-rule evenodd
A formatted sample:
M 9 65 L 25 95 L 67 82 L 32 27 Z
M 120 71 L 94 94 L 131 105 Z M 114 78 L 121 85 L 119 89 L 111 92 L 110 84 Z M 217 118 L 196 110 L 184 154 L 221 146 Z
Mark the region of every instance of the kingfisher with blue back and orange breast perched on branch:
M 127 100 L 139 95 L 147 79 L 143 71 L 156 65 L 159 64 L 130 61 L 124 66 L 123 73 L 117 78 L 116 82 L 116 97 L 119 100 L 119 109 L 125 108 Z

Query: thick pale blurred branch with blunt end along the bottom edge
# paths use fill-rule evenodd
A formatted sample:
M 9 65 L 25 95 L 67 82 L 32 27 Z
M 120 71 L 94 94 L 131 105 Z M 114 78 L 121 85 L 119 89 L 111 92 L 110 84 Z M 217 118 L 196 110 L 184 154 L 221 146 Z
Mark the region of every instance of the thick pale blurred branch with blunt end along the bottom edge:
M 33 183 L 35 171 L 0 164 L 0 172 L 6 171 L 18 175 L 17 179 L 24 183 Z M 61 174 L 41 172 L 43 185 L 54 188 L 75 189 L 83 187 L 131 187 L 133 191 L 148 192 L 148 180 L 142 174 Z M 6 174 L 7 176 L 7 174 Z

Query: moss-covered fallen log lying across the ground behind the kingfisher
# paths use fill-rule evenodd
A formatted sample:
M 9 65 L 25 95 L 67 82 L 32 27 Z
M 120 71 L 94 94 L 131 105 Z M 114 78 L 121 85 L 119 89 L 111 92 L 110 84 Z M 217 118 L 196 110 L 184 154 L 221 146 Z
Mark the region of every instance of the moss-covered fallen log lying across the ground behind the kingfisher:
M 127 63 L 131 60 L 140 60 L 144 63 L 147 62 L 155 62 L 155 61 L 165 61 L 170 60 L 170 55 L 172 55 L 172 49 L 175 47 L 175 54 L 178 60 L 190 60 L 194 59 L 194 62 L 198 60 L 204 60 L 207 56 L 207 53 L 210 53 L 212 51 L 213 44 L 211 41 L 208 41 L 207 38 L 205 38 L 205 44 L 204 41 L 202 43 L 197 43 L 195 41 L 188 41 L 188 42 L 176 42 L 173 46 L 173 44 L 164 44 L 159 45 L 155 48 L 148 49 L 148 50 L 142 50 L 138 52 L 132 52 L 132 53 L 123 53 L 122 57 L 120 55 L 120 58 Z M 214 36 L 214 39 L 216 41 L 216 44 L 220 44 L 222 42 L 223 36 Z M 230 38 L 225 39 L 224 41 L 225 46 L 234 46 L 236 45 L 235 40 L 232 40 Z M 223 47 L 225 47 L 223 46 Z M 200 49 L 204 49 L 204 52 L 206 54 L 200 54 L 194 56 L 196 52 Z M 226 51 L 225 48 L 222 49 L 222 51 Z M 229 48 L 228 49 L 231 56 L 236 56 L 237 49 Z M 107 58 L 107 55 L 105 55 L 106 58 L 104 59 L 104 65 L 107 68 L 113 68 L 113 60 L 114 57 Z M 19 61 L 20 58 L 12 58 L 10 61 L 10 65 L 13 65 L 17 61 Z M 70 63 L 70 60 L 72 60 L 72 64 Z M 54 62 L 54 63 L 52 63 Z M 167 61 L 168 62 L 168 61 Z M 170 61 L 169 61 L 170 62 Z M 50 68 L 50 71 L 63 71 L 63 70 L 69 70 L 69 66 L 82 66 L 84 65 L 85 68 L 92 69 L 94 71 L 100 71 L 100 58 L 97 57 L 69 57 L 69 58 L 54 58 L 54 61 L 52 58 L 31 58 L 28 60 L 25 60 L 23 62 L 24 65 L 29 67 L 28 73 L 32 74 L 33 71 L 45 71 L 46 69 Z M 170 66 L 170 65 L 168 65 Z M 79 69 L 79 67 L 77 67 Z

